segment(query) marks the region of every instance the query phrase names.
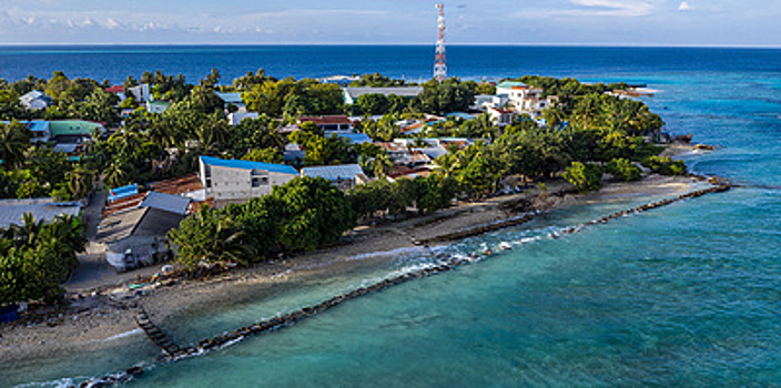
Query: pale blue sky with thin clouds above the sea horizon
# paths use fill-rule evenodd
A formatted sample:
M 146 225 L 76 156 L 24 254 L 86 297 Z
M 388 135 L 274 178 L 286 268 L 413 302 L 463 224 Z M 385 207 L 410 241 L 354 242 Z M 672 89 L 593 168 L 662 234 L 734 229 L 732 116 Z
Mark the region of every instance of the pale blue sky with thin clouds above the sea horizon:
M 443 1 L 448 44 L 781 47 L 780 0 Z M 0 44 L 433 44 L 425 0 L 0 0 Z

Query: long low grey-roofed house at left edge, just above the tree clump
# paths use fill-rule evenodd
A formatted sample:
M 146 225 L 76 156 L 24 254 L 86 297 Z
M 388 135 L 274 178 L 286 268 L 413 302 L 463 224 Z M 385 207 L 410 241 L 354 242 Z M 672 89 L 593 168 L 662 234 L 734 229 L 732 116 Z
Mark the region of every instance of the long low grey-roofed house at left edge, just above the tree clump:
M 51 222 L 59 215 L 78 216 L 81 204 L 60 203 L 54 198 L 0 200 L 0 229 L 21 225 L 22 216 L 27 213 L 31 213 L 37 221 Z

